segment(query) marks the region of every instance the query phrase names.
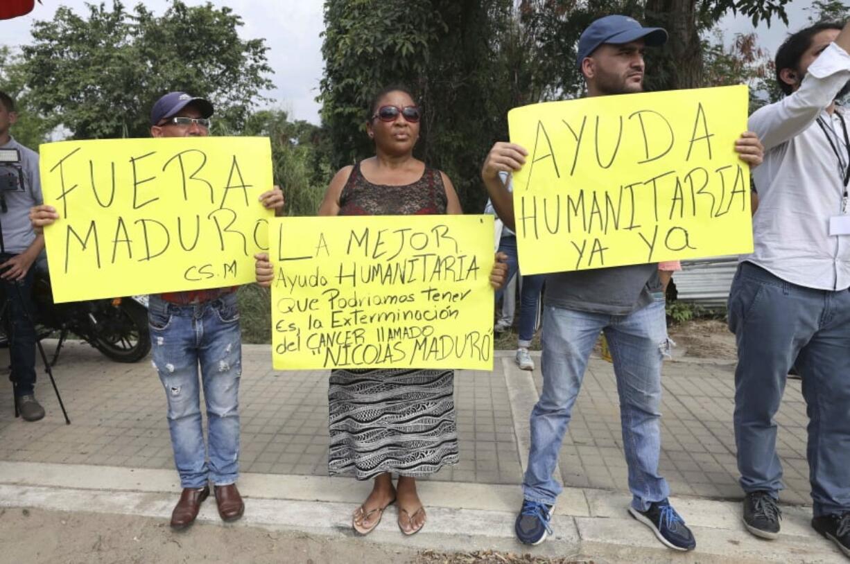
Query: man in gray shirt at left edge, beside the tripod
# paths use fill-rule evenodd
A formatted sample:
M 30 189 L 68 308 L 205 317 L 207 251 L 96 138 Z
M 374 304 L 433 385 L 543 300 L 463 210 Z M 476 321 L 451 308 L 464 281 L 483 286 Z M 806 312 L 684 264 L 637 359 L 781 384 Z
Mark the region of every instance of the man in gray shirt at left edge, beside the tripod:
M 42 203 L 42 183 L 38 174 L 38 154 L 9 134 L 9 127 L 17 119 L 14 100 L 7 93 L 0 92 L 0 149 L 17 155 L 12 179 L 7 176 L 6 182 L 0 180 L 4 253 L 0 255 L 0 279 L 8 305 L 5 320 L 12 364 L 9 378 L 21 419 L 37 421 L 44 417 L 44 409 L 35 396 L 36 329 L 31 319 L 32 264 L 44 248 L 44 235 L 33 231 L 26 212 L 31 206 Z M 19 166 L 23 185 L 18 185 L 20 180 L 14 174 Z

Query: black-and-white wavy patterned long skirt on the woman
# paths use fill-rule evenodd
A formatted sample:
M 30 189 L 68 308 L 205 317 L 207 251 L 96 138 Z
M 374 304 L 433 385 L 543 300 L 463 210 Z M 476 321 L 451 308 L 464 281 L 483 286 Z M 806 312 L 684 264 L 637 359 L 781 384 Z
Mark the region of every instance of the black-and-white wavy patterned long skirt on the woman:
M 421 477 L 456 464 L 454 376 L 452 370 L 333 370 L 328 473 Z

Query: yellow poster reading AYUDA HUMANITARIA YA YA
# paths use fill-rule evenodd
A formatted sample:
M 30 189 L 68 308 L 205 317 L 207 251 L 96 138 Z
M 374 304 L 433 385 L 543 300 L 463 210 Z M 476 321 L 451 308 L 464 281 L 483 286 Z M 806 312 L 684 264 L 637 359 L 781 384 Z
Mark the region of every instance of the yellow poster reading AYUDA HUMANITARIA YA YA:
M 750 172 L 734 152 L 747 87 L 534 104 L 507 115 L 525 274 L 752 251 Z

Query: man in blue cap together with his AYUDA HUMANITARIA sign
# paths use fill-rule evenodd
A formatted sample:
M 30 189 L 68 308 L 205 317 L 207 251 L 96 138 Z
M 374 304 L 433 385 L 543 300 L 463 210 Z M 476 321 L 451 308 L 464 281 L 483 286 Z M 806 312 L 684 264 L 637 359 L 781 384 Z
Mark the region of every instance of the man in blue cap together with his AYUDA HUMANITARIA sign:
M 696 547 L 659 471 L 661 365 L 671 342 L 658 262 L 751 249 L 744 164 L 759 164 L 763 149 L 737 133 L 746 87 L 642 93 L 643 54 L 666 39 L 628 16 L 594 20 L 575 60 L 587 97 L 512 110 L 513 143 L 496 144 L 481 171 L 496 213 L 517 234 L 520 268 L 552 273 L 543 387 L 514 527 L 525 544 L 553 533 L 558 448 L 602 332 L 620 398 L 629 514 L 669 548 Z M 501 171 L 513 178 L 502 183 Z

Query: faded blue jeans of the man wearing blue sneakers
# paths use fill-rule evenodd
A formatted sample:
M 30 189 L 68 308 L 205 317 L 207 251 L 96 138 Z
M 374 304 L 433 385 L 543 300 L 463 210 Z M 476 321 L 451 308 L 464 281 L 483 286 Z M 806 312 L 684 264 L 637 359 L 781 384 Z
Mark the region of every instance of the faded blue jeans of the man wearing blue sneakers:
M 531 451 L 524 498 L 553 505 L 558 452 L 570 423 L 599 332 L 608 339 L 617 392 L 632 506 L 641 511 L 665 499 L 670 488 L 658 474 L 661 449 L 661 363 L 668 350 L 664 296 L 628 315 L 587 313 L 547 306 L 543 312 L 543 392 L 531 411 Z

